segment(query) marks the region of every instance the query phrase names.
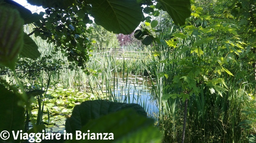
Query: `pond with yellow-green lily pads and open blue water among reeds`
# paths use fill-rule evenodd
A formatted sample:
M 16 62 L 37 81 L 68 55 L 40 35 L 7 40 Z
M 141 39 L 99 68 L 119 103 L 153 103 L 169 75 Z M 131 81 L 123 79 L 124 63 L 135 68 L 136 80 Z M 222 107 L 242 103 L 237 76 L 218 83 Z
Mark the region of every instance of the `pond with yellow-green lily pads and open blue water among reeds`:
M 113 81 L 112 81 L 113 80 Z M 108 86 L 110 85 L 110 86 Z M 86 86 L 88 87 L 88 86 Z M 158 113 L 156 96 L 152 92 L 152 82 L 146 76 L 131 75 L 121 73 L 115 74 L 111 80 L 100 81 L 96 89 L 97 96 L 109 101 L 122 103 L 140 104 L 148 116 L 153 116 Z M 82 98 L 86 100 L 97 99 L 97 96 L 78 89 L 63 89 L 59 85 L 56 89 L 49 89 L 47 91 L 47 98 L 45 98 L 44 112 L 51 111 L 56 113 L 54 116 L 43 116 L 43 122 L 46 125 L 46 132 L 60 132 L 63 133 L 65 129 L 65 120 L 70 117 L 72 106 L 83 102 Z M 36 116 L 37 109 L 32 110 L 32 114 Z M 31 126 L 31 125 L 30 125 Z

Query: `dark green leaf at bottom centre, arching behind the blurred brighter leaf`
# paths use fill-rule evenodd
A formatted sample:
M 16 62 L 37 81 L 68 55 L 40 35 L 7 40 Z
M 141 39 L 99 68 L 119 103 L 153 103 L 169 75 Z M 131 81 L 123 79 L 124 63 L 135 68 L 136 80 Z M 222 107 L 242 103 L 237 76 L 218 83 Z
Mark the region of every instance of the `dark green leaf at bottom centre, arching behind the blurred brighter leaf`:
M 91 119 L 129 108 L 135 109 L 140 115 L 147 116 L 147 113 L 139 104 L 116 103 L 105 100 L 85 101 L 74 107 L 72 116 L 66 121 L 66 130 L 74 133 Z

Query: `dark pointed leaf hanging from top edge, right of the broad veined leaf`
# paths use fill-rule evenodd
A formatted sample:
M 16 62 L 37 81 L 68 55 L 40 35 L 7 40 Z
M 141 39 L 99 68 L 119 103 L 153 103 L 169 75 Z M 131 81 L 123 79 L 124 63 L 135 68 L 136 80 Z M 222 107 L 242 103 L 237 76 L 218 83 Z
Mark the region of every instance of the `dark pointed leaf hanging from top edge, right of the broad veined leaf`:
M 190 17 L 190 0 L 158 0 L 177 25 L 184 25 Z

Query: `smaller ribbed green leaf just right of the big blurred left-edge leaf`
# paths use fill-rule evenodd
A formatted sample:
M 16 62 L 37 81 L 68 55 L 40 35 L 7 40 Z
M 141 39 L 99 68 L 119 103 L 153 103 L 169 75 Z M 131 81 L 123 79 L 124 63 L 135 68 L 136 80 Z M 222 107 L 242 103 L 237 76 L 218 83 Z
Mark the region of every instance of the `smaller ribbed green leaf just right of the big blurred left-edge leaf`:
M 27 34 L 24 34 L 24 41 L 25 43 L 20 55 L 30 59 L 36 59 L 40 57 L 41 54 L 38 51 L 38 46 Z

